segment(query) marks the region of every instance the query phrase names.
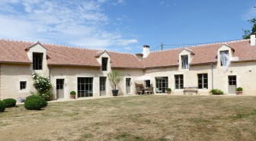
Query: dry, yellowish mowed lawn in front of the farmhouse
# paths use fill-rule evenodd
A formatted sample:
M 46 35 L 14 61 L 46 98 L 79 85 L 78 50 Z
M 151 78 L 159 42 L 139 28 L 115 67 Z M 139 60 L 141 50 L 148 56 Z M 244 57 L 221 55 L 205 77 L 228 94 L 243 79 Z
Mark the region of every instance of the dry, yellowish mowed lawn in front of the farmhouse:
M 132 96 L 24 105 L 0 140 L 256 140 L 256 96 Z

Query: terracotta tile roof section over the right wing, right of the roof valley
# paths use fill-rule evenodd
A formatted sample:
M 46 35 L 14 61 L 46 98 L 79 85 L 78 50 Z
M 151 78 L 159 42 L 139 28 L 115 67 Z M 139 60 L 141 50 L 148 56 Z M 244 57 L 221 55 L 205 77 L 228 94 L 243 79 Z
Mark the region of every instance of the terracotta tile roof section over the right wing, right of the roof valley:
M 250 40 L 238 40 L 230 42 L 219 42 L 208 45 L 197 45 L 192 47 L 186 47 L 193 52 L 193 58 L 190 61 L 191 65 L 194 64 L 206 64 L 217 62 L 217 51 L 222 45 L 229 45 L 234 50 L 234 57 L 238 57 L 239 61 L 256 61 L 256 45 L 251 46 Z M 178 54 L 184 48 L 169 49 L 158 52 L 150 52 L 147 58 L 143 58 L 142 61 L 145 67 L 168 67 L 178 65 Z

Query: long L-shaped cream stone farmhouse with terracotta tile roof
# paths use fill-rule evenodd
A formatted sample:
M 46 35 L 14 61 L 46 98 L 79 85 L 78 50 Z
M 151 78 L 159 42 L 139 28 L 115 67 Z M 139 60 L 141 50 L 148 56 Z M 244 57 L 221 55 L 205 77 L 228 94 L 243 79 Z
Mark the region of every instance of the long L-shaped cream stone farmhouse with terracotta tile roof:
M 235 58 L 235 59 L 234 59 Z M 35 92 L 32 73 L 50 77 L 55 99 L 112 96 L 110 71 L 121 71 L 119 95 L 136 93 L 137 77 L 146 75 L 146 86 L 154 93 L 182 95 L 184 87 L 197 86 L 198 94 L 209 95 L 211 89 L 235 94 L 241 86 L 245 95 L 256 95 L 256 45 L 251 39 L 216 42 L 150 52 L 127 54 L 82 49 L 41 42 L 0 40 L 0 99 L 30 96 Z

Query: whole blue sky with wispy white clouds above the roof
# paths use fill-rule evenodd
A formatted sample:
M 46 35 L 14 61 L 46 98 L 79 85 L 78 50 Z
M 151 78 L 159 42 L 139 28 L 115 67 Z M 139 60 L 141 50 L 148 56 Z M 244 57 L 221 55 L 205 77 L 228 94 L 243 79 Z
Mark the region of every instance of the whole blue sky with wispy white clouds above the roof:
M 0 0 L 0 38 L 140 53 L 142 45 L 242 39 L 254 6 L 255 0 Z

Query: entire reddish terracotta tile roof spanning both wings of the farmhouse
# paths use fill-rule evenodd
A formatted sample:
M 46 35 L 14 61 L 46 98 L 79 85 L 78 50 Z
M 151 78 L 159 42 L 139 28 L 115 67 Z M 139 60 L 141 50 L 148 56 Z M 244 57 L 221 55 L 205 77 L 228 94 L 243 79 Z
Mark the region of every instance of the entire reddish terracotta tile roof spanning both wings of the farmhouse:
M 233 56 L 237 56 L 239 61 L 256 61 L 256 45 L 251 46 L 249 39 L 246 39 L 186 47 L 185 49 L 189 50 L 193 56 L 190 64 L 216 63 L 217 50 L 224 44 L 229 45 L 234 50 Z M 25 51 L 31 45 L 34 45 L 34 42 L 0 39 L 0 63 L 31 63 Z M 47 63 L 50 65 L 101 67 L 101 64 L 97 61 L 97 57 L 105 52 L 103 50 L 72 48 L 63 45 L 42 45 L 47 49 Z M 144 68 L 178 66 L 178 54 L 183 49 L 150 52 L 147 58 L 142 58 L 140 61 L 136 55 L 106 52 L 110 55 L 111 67 Z

